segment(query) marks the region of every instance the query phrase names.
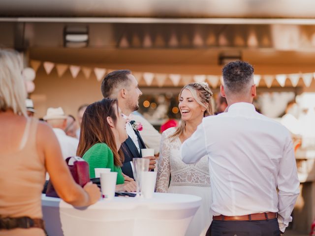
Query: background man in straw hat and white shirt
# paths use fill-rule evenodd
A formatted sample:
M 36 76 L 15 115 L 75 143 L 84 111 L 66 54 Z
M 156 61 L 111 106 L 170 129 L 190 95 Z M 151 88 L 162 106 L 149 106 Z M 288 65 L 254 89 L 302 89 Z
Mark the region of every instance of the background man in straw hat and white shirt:
M 67 116 L 64 114 L 63 109 L 61 107 L 48 108 L 47 114 L 43 119 L 53 127 L 63 153 L 63 158 L 66 159 L 69 156 L 75 156 L 79 140 L 65 134 L 64 129 L 67 126 Z

